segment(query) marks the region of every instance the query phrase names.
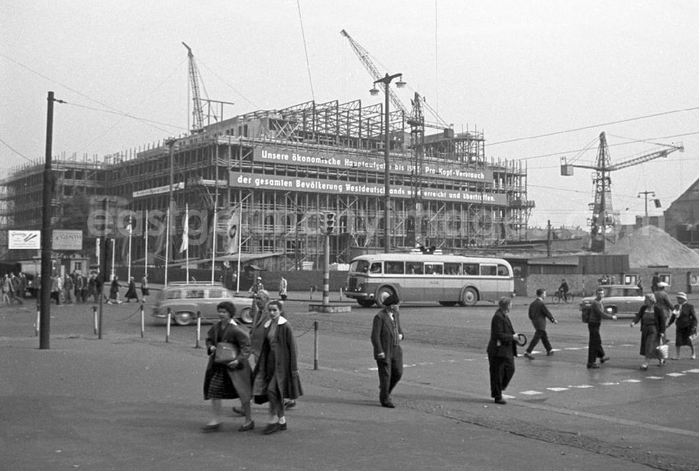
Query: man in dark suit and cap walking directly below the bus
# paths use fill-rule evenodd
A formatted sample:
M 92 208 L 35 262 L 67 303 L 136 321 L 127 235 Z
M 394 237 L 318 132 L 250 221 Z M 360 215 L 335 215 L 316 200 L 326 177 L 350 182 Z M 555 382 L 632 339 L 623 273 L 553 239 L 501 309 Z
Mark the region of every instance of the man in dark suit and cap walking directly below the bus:
M 403 329 L 398 317 L 400 300 L 396 294 L 384 299 L 384 308 L 374 316 L 371 344 L 379 368 L 379 400 L 383 407 L 396 407 L 391 401 L 393 391 L 403 376 Z

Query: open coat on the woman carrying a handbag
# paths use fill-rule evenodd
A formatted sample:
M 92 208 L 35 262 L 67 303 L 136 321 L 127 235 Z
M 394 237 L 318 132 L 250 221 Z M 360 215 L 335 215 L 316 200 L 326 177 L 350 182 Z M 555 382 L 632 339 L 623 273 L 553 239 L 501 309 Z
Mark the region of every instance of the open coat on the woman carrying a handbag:
M 229 342 L 237 347 L 238 355 L 236 356 L 236 360 L 238 360 L 238 368 L 236 368 L 236 370 L 226 368 L 228 372 L 227 378 L 231 381 L 233 389 L 236 391 L 236 398 L 250 400 L 252 397 L 252 370 L 250 370 L 250 362 L 247 361 L 247 358 L 252 352 L 250 349 L 250 338 L 237 324 L 229 323 L 224 327 L 222 321 L 218 321 L 211 326 L 208 333 L 206 333 L 207 351 L 209 351 L 209 347 L 215 347 L 218 342 Z M 205 400 L 208 399 L 207 391 L 215 366 L 214 357 L 215 354 L 209 355 L 206 373 L 204 374 Z

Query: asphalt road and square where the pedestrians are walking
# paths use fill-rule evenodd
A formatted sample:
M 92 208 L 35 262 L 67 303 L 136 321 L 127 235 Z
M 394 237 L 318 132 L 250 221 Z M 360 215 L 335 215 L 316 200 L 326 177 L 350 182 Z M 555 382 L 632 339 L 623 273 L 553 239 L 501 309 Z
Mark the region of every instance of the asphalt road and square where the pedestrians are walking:
M 319 314 L 307 297 L 285 307 L 305 396 L 289 430 L 268 437 L 237 433 L 233 418 L 199 433 L 208 404 L 196 326 L 173 326 L 165 342 L 146 305 L 141 338 L 139 305 L 106 305 L 96 340 L 92 305 L 52 306 L 51 349 L 38 350 L 35 306 L 0 307 L 0 469 L 699 469 L 699 362 L 685 349 L 640 371 L 628 321 L 603 324 L 612 361 L 587 370 L 577 307 L 553 305 L 554 356 L 518 358 L 509 403 L 496 406 L 484 354 L 494 307 L 402 307 L 405 374 L 386 410 L 368 340 L 377 309 Z M 531 338 L 527 302 L 512 319 Z M 259 428 L 265 416 L 254 408 Z

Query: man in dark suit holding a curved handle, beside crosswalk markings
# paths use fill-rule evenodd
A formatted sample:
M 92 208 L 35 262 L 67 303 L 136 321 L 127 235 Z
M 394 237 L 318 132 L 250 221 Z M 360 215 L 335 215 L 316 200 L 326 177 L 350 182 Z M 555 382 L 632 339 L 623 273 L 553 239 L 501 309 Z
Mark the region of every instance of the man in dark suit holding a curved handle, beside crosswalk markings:
M 496 404 L 505 405 L 503 391 L 507 389 L 514 376 L 514 357 L 517 356 L 517 339 L 510 312 L 512 299 L 503 296 L 498 300 L 498 310 L 490 322 L 490 341 L 488 342 L 488 364 L 490 370 L 490 396 Z

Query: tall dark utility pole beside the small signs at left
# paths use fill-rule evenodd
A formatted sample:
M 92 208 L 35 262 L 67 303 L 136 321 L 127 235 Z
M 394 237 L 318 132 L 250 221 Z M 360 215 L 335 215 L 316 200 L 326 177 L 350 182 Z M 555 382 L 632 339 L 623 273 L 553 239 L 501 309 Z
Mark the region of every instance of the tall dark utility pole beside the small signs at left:
M 50 349 L 51 332 L 51 200 L 53 199 L 54 177 L 51 170 L 51 147 L 53 145 L 53 102 L 65 103 L 48 92 L 46 108 L 46 153 L 43 173 L 43 208 L 41 214 L 41 300 L 39 305 L 39 349 Z

